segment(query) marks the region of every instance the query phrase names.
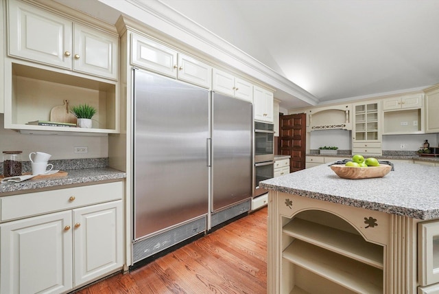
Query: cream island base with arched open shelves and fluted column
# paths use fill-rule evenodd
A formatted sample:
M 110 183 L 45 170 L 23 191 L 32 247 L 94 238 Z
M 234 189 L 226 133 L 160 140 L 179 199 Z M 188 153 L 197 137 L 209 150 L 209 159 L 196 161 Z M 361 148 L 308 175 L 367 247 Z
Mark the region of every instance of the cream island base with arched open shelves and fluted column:
M 392 215 L 272 191 L 268 203 L 268 293 L 412 293 L 389 282 Z

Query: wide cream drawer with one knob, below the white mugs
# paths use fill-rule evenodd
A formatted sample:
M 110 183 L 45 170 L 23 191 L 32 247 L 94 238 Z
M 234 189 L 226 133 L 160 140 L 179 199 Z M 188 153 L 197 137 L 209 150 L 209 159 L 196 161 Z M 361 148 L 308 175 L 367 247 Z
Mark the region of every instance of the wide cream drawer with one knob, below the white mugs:
M 0 220 L 12 220 L 37 214 L 122 199 L 123 182 L 102 183 L 75 188 L 5 196 L 0 199 Z

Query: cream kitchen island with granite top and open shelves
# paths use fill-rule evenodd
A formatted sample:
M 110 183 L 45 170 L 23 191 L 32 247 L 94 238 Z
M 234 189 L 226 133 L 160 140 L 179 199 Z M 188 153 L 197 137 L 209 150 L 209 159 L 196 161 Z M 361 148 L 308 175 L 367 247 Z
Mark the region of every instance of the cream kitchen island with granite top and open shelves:
M 439 227 L 438 174 L 397 162 L 385 177 L 349 180 L 323 164 L 261 182 L 268 293 L 438 293 L 438 238 L 418 236 Z

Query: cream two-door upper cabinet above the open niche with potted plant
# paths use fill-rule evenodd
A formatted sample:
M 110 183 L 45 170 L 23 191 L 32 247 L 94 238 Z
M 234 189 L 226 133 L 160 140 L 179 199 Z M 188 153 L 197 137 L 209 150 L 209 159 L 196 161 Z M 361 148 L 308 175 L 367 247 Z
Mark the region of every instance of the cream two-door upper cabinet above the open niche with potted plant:
M 117 36 L 23 2 L 8 5 L 10 56 L 117 80 Z

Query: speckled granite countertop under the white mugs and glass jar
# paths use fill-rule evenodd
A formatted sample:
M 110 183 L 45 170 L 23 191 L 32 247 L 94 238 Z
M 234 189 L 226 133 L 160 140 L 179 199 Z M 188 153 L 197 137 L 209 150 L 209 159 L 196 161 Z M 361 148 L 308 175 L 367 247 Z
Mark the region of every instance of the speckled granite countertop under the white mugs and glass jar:
M 106 181 L 126 178 L 126 172 L 115 170 L 113 168 L 82 168 L 73 170 L 62 170 L 67 172 L 64 177 L 47 177 L 40 179 L 29 179 L 20 183 L 0 183 L 0 196 L 10 194 L 9 192 L 33 192 L 39 188 L 62 188 L 64 185 L 78 183 L 92 183 L 95 181 Z

